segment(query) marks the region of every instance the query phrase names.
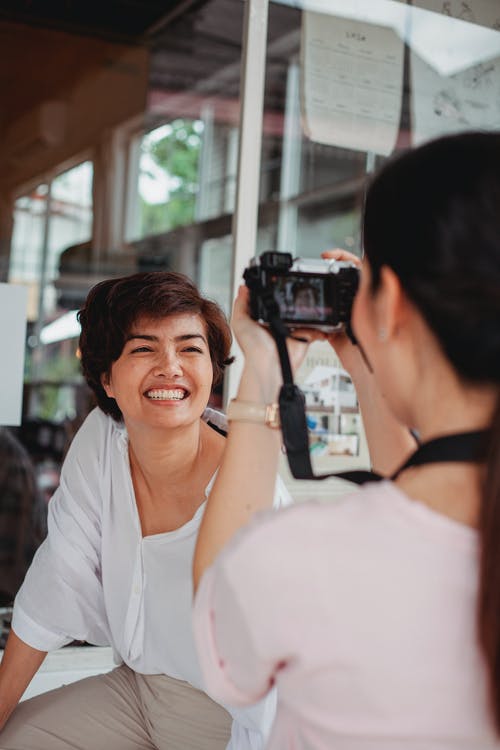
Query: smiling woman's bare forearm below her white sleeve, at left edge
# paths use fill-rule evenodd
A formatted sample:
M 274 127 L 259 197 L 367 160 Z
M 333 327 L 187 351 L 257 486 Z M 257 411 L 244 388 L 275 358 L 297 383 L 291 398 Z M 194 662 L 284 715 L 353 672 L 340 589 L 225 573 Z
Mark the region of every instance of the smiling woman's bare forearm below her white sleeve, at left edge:
M 46 656 L 11 630 L 0 663 L 0 731 Z

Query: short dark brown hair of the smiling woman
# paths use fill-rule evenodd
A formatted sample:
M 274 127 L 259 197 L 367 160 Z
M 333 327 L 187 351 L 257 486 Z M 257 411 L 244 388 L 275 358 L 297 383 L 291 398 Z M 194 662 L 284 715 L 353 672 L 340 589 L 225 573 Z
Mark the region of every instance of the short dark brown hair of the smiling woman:
M 109 373 L 119 358 L 134 323 L 143 317 L 159 319 L 184 313 L 199 315 L 206 325 L 216 386 L 232 362 L 231 329 L 219 305 L 202 297 L 187 276 L 174 271 L 136 273 L 101 281 L 90 290 L 78 313 L 81 362 L 85 380 L 105 414 L 122 419 L 115 399 L 106 395 L 101 376 Z

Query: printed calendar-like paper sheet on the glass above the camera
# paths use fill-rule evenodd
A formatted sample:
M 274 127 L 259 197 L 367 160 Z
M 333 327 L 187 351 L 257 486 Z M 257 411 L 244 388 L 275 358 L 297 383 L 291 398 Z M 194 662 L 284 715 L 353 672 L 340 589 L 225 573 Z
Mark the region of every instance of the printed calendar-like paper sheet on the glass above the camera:
M 403 49 L 391 28 L 304 12 L 306 135 L 317 143 L 390 154 L 401 113 Z

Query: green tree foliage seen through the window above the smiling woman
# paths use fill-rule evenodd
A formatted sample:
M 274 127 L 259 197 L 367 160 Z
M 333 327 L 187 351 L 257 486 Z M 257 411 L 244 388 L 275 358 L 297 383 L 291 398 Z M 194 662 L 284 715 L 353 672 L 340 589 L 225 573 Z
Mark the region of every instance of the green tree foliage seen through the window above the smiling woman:
M 166 204 L 148 203 L 141 197 L 141 233 L 158 234 L 194 221 L 201 149 L 200 123 L 174 120 L 159 140 L 145 138 L 148 153 L 171 180 Z

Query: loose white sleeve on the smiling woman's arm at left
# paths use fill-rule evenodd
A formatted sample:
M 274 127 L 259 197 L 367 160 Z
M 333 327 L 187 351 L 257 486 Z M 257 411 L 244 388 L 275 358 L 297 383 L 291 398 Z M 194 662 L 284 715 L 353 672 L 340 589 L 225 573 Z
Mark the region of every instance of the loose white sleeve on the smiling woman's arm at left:
M 73 639 L 109 643 L 100 560 L 104 424 L 93 412 L 75 436 L 49 502 L 47 538 L 14 603 L 12 629 L 41 651 Z

